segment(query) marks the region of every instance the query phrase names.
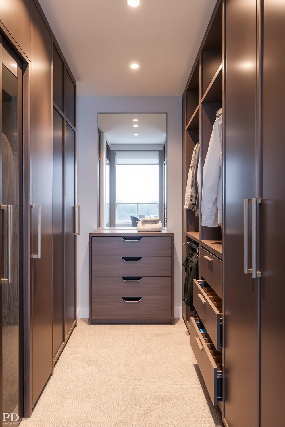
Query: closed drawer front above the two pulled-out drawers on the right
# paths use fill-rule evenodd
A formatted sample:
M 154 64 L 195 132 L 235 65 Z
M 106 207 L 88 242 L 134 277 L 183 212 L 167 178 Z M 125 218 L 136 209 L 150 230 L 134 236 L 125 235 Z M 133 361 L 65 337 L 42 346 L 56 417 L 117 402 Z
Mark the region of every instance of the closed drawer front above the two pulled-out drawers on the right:
M 222 298 L 222 261 L 204 248 L 200 248 L 200 274 Z

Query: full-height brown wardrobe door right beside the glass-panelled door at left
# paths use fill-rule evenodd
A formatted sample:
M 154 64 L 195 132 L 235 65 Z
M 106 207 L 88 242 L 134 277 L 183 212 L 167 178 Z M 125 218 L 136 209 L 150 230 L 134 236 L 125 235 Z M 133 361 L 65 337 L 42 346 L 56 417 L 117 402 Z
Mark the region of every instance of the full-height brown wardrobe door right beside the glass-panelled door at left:
M 32 406 L 53 369 L 51 61 L 52 38 L 32 2 Z

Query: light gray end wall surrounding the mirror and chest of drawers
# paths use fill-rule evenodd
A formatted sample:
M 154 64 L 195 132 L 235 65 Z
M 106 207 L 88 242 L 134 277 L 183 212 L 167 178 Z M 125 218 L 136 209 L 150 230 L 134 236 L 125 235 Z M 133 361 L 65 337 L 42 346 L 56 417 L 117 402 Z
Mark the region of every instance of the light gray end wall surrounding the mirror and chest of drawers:
M 167 113 L 167 228 L 174 233 L 174 316 L 182 317 L 182 99 L 79 97 L 78 316 L 89 316 L 89 233 L 97 228 L 97 113 Z

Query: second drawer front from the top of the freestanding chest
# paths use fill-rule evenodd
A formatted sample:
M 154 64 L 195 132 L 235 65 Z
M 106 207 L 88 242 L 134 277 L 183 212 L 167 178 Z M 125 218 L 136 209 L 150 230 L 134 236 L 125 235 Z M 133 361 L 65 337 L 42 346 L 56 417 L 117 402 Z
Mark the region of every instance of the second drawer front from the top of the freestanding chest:
M 171 257 L 92 257 L 92 276 L 171 276 Z

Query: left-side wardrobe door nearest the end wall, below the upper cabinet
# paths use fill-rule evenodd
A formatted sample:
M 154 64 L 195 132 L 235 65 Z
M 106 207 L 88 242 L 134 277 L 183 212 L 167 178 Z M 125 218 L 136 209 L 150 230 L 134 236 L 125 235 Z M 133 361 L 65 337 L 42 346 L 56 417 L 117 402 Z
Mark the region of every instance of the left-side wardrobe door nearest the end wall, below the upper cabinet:
M 65 310 L 68 336 L 76 319 L 75 132 L 66 124 L 65 146 Z

